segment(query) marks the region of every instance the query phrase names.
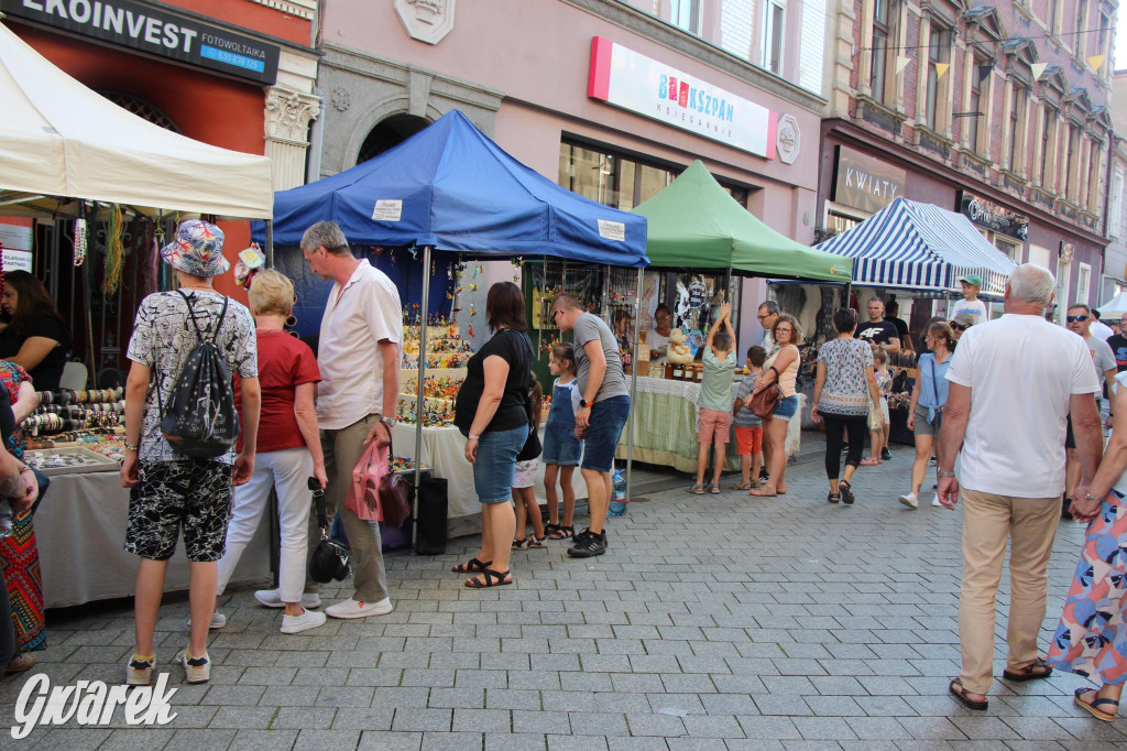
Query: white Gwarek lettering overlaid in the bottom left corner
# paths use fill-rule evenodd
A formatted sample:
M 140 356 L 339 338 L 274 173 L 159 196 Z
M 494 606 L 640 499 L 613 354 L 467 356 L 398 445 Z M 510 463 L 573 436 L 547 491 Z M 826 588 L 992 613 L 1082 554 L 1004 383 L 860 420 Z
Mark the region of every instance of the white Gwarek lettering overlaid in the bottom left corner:
M 21 741 L 36 725 L 62 725 L 71 719 L 92 727 L 109 725 L 114 712 L 123 707 L 128 725 L 167 725 L 176 719 L 168 673 L 160 673 L 156 686 L 114 686 L 105 681 L 77 681 L 73 686 L 55 686 L 46 673 L 33 675 L 16 700 L 11 736 Z

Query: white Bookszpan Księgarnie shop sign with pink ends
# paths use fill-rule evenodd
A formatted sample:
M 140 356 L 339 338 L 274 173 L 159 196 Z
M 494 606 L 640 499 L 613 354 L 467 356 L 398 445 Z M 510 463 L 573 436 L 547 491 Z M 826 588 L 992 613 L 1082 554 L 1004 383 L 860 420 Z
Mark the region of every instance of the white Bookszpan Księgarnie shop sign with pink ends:
M 775 113 L 600 36 L 591 45 L 587 96 L 775 158 Z

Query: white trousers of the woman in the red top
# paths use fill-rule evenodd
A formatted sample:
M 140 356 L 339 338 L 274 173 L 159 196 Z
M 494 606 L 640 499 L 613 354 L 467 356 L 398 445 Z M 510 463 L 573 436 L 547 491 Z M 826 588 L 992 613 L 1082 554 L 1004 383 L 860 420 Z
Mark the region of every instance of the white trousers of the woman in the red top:
M 227 528 L 227 551 L 219 562 L 218 593 L 223 594 L 243 549 L 263 519 L 270 487 L 278 494 L 278 528 L 282 532 L 278 590 L 283 602 L 300 602 L 305 586 L 305 556 L 309 549 L 309 510 L 312 493 L 313 457 L 305 448 L 255 454 L 255 471 L 245 485 L 234 488 L 231 522 Z

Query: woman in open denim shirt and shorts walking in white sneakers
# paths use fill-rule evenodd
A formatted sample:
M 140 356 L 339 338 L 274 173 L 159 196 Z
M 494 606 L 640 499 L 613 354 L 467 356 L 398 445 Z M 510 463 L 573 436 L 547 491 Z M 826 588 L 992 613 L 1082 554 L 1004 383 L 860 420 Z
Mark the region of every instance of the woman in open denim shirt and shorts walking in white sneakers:
M 900 503 L 908 509 L 920 507 L 920 493 L 923 479 L 928 476 L 932 444 L 939 435 L 939 426 L 943 419 L 943 406 L 947 404 L 947 369 L 951 364 L 951 353 L 955 350 L 955 332 L 942 321 L 931 324 L 923 341 L 929 352 L 920 355 L 919 374 L 912 388 L 912 403 L 908 405 L 907 427 L 915 435 L 916 444 L 916 456 L 912 462 L 912 489 L 899 497 Z M 931 505 L 940 505 L 939 498 L 932 501 Z

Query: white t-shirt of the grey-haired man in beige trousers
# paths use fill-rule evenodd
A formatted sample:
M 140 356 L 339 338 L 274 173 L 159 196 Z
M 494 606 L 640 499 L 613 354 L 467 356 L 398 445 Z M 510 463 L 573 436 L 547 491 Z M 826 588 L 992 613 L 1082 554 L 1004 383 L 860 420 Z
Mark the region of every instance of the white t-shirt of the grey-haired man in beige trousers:
M 1100 390 L 1083 338 L 1006 313 L 966 330 L 947 380 L 970 388 L 962 487 L 1020 498 L 1064 493 L 1068 399 Z

